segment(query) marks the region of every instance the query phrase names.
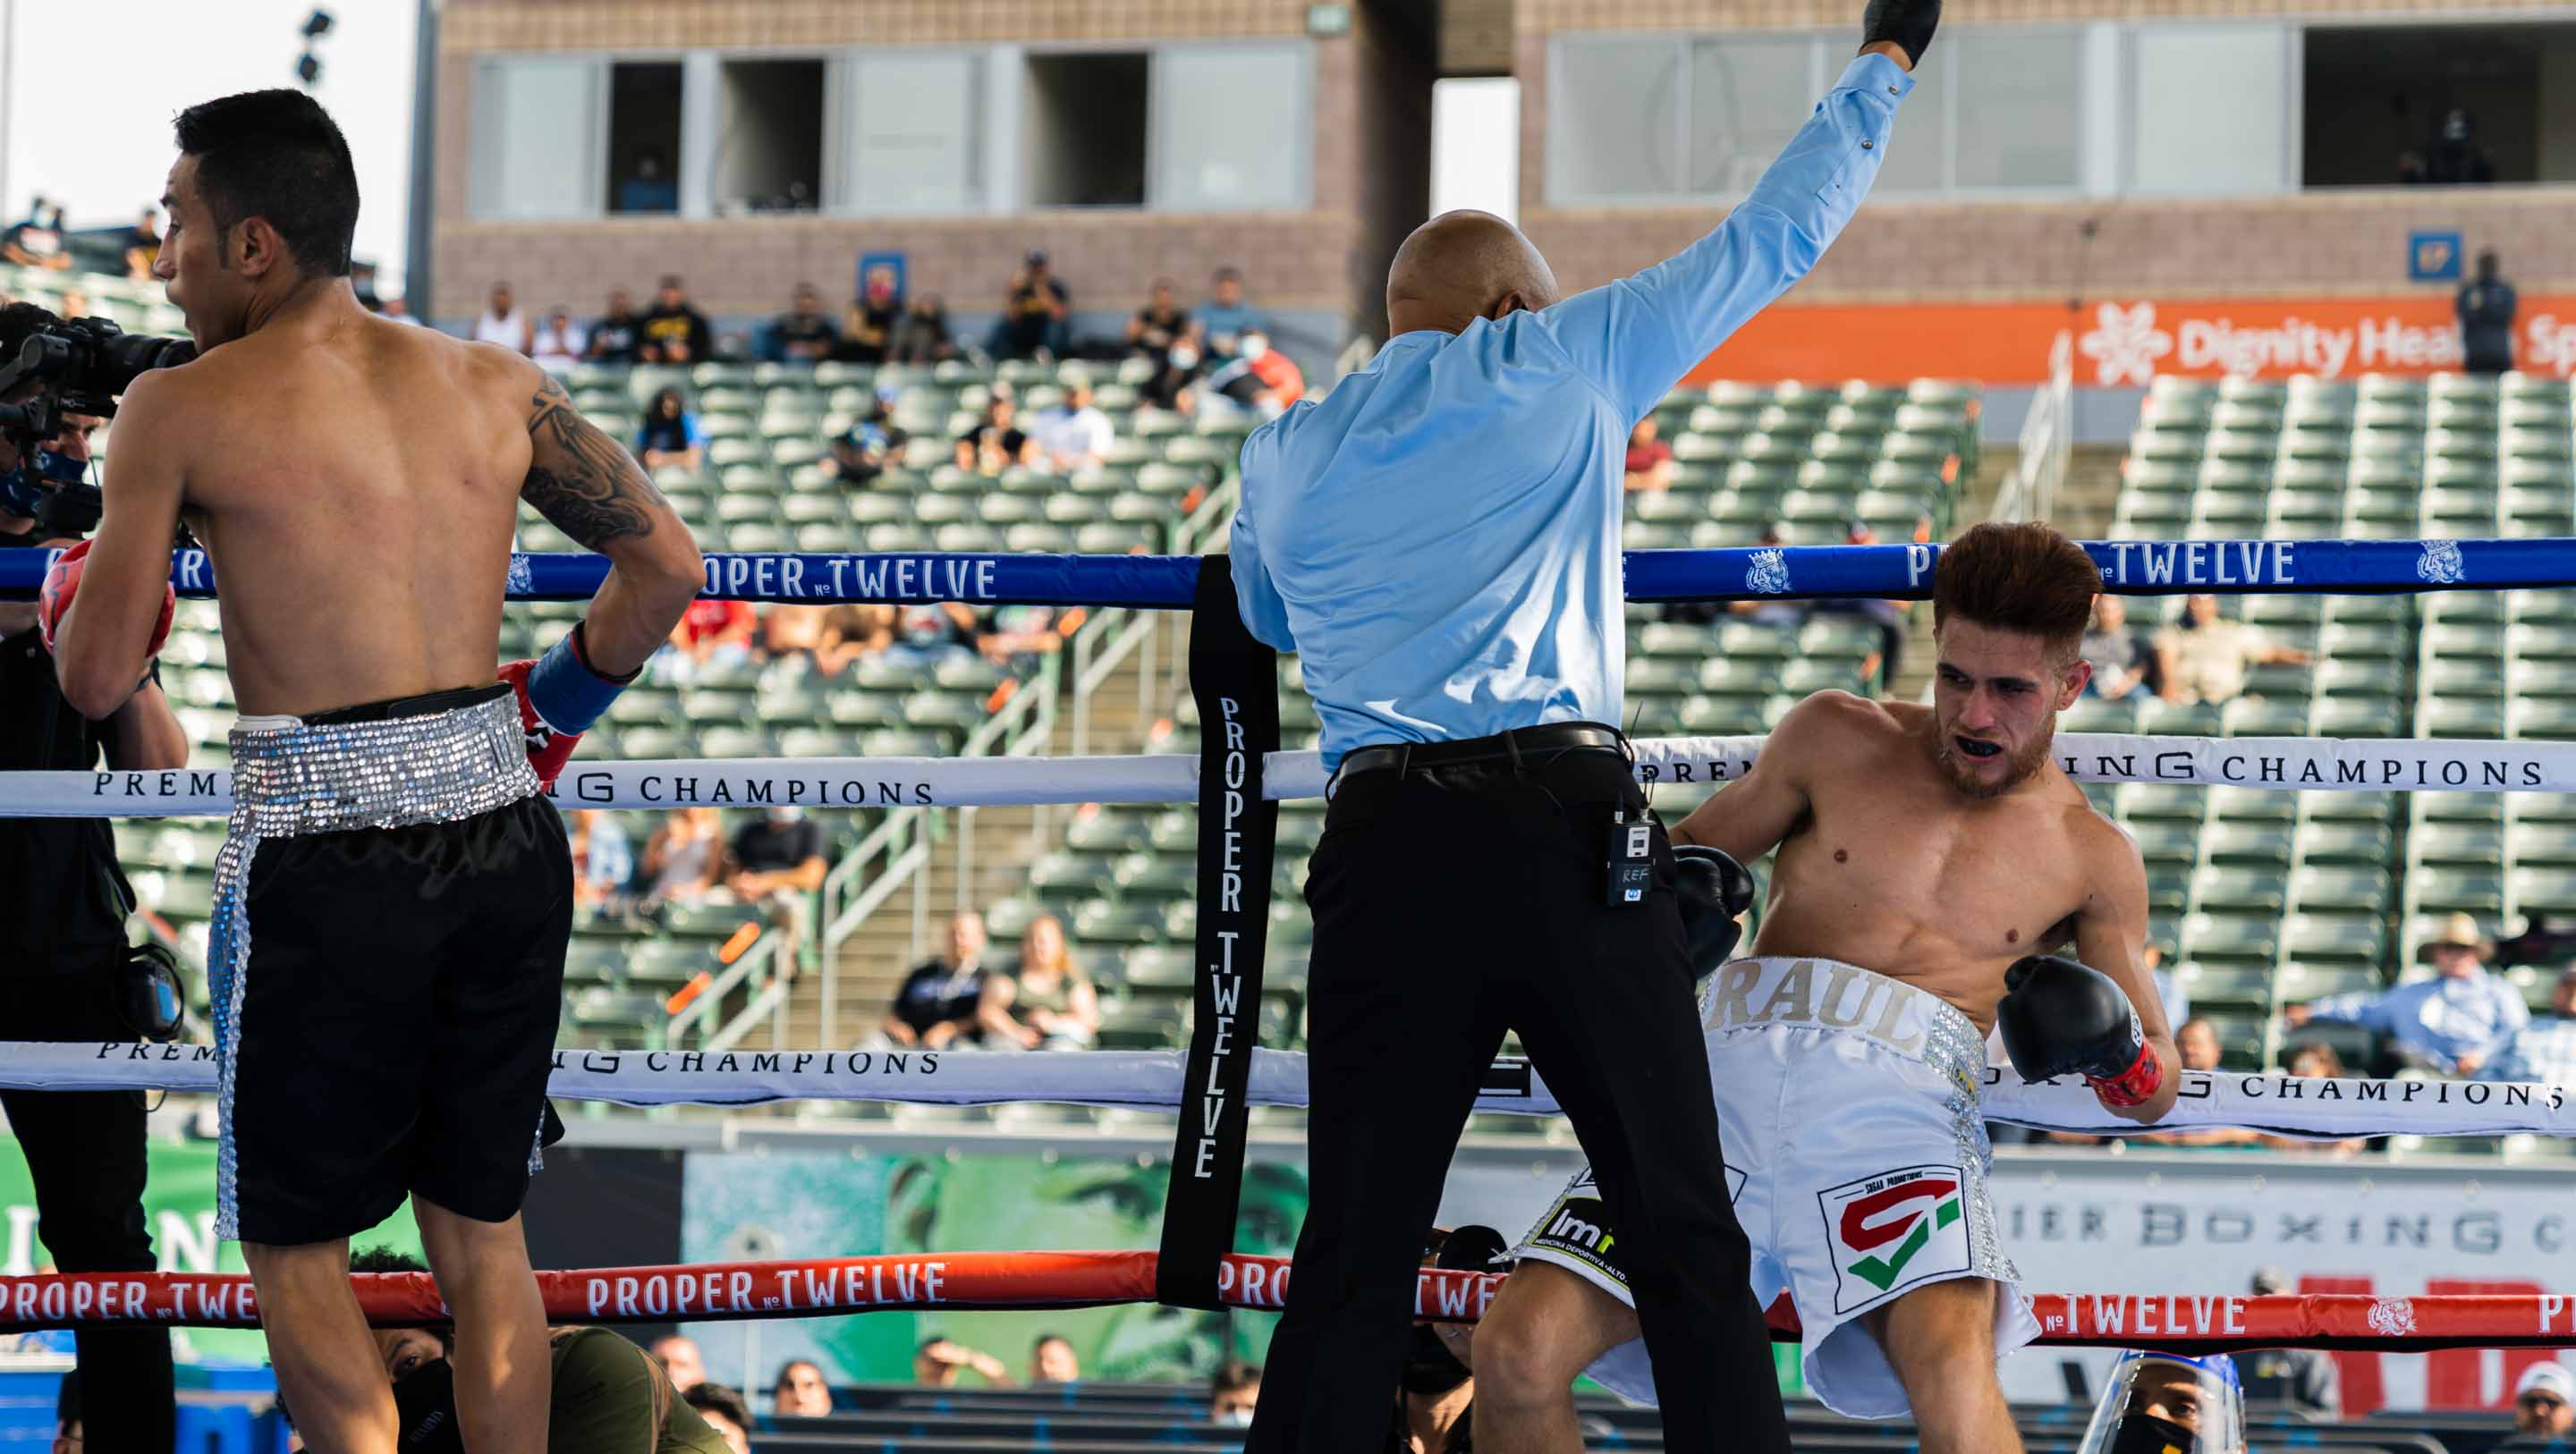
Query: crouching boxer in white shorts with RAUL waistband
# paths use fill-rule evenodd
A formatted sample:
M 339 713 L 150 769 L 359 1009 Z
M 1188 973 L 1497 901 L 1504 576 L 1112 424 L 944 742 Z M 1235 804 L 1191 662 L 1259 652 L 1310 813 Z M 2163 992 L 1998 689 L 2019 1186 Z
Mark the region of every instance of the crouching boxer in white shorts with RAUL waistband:
M 1752 957 L 1700 996 L 1754 1292 L 1788 1292 L 1829 1408 L 1911 1413 L 1929 1454 L 2022 1449 L 1994 1361 L 2038 1336 L 1986 1199 L 1986 1029 L 2017 1073 L 2084 1076 L 2136 1122 L 2177 1091 L 2138 847 L 2050 759 L 2099 592 L 2048 525 L 1971 528 L 1935 566 L 1932 705 L 1819 692 L 1672 829 L 1775 854 Z M 2084 962 L 2043 957 L 2066 942 Z M 1476 1325 L 1481 1444 L 1579 1449 L 1587 1369 L 1654 1397 L 1623 1269 L 1669 1266 L 1664 1235 L 1566 1189 Z

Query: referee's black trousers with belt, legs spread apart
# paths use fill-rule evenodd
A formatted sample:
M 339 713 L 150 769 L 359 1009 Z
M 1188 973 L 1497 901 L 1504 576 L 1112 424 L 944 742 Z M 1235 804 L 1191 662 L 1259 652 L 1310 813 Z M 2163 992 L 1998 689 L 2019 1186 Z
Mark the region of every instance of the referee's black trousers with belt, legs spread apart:
M 1422 1238 L 1504 1029 L 1574 1119 L 1633 1258 L 1664 1446 L 1788 1449 L 1672 849 L 1656 829 L 1656 890 L 1610 908 L 1615 808 L 1643 795 L 1610 751 L 1340 782 L 1306 880 L 1311 1204 L 1252 1454 L 1383 1444 Z

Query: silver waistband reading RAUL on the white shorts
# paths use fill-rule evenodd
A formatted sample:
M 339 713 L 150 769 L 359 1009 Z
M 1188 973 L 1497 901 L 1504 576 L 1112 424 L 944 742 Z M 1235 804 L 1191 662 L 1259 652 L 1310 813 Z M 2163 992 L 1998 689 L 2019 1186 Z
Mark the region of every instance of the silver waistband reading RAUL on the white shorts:
M 1700 1029 L 1708 1035 L 1765 1027 L 1860 1035 L 1932 1065 L 1950 1078 L 1986 1073 L 1986 1037 L 1960 1009 L 1932 991 L 1842 960 L 1728 960 L 1708 975 Z

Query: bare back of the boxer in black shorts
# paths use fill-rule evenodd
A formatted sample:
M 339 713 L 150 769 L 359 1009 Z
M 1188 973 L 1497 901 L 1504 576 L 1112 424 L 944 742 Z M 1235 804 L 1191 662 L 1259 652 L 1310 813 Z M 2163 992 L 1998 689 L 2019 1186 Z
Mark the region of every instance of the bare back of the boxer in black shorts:
M 492 677 L 538 378 L 363 314 L 188 365 L 180 507 L 214 558 L 245 713 Z

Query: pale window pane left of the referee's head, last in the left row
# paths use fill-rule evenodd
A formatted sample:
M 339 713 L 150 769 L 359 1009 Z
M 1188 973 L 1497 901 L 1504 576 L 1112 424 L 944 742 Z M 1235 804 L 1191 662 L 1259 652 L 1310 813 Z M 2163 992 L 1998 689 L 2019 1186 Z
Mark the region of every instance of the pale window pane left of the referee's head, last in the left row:
M 1298 206 L 1306 185 L 1303 46 L 1172 46 L 1154 57 L 1154 206 Z

